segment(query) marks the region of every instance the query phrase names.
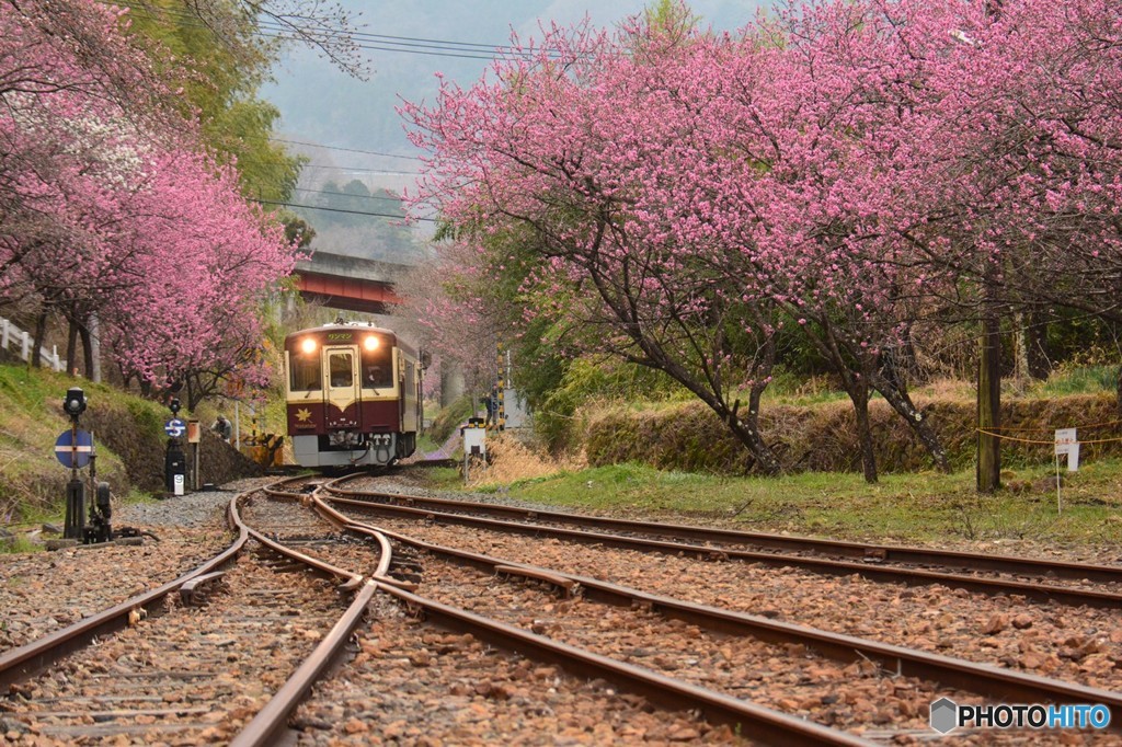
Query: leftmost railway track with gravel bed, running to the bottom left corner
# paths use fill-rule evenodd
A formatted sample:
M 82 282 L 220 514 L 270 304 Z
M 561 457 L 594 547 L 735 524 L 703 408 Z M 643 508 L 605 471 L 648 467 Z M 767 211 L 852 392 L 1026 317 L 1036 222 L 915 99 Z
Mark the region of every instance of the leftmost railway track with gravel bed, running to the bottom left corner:
M 200 568 L 0 654 L 4 739 L 273 744 L 374 587 L 314 561 L 285 573 L 298 554 L 241 522 L 248 498 L 230 504 L 237 538 Z

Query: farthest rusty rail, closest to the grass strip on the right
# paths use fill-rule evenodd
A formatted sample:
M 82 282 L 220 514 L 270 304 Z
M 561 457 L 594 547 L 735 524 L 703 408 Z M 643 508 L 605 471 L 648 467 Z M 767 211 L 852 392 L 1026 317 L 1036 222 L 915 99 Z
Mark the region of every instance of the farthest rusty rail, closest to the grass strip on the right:
M 341 488 L 344 482 L 365 477 L 347 474 L 331 480 L 323 489 L 338 495 L 355 498 L 375 497 L 395 504 L 413 507 L 434 506 L 467 509 L 498 516 L 513 516 L 522 519 L 545 519 L 578 526 L 610 528 L 620 532 L 635 532 L 652 535 L 671 536 L 701 542 L 755 545 L 795 552 L 811 552 L 824 555 L 853 557 L 870 562 L 916 563 L 921 565 L 939 565 L 946 568 L 969 569 L 975 571 L 997 571 L 1003 573 L 1021 573 L 1036 577 L 1054 577 L 1076 581 L 1122 582 L 1122 566 L 1103 565 L 1098 563 L 1076 563 L 1070 561 L 1043 561 L 1018 555 L 993 555 L 969 553 L 957 550 L 937 550 L 931 547 L 909 547 L 903 545 L 885 545 L 873 543 L 846 542 L 842 540 L 818 540 L 815 537 L 785 536 L 717 527 L 690 526 L 688 524 L 661 524 L 613 517 L 567 514 L 562 511 L 537 510 L 504 506 L 500 504 L 482 504 L 478 501 L 454 500 L 449 498 L 431 498 L 421 496 L 402 496 L 383 491 L 365 491 Z

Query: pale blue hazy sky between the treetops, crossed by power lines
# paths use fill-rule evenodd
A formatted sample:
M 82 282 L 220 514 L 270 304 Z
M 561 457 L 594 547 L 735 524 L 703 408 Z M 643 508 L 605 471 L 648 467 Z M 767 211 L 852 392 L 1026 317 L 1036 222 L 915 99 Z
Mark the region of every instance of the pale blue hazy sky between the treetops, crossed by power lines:
M 771 1 L 695 0 L 690 4 L 703 26 L 735 29 Z M 370 80 L 350 79 L 313 52 L 294 50 L 276 70 L 277 81 L 266 86 L 264 98 L 280 109 L 283 137 L 333 148 L 303 148 L 318 162 L 333 164 L 323 168 L 375 168 L 403 172 L 407 178 L 407 172 L 417 167 L 415 160 L 355 151 L 415 155 L 394 107 L 402 99 L 432 101 L 438 72 L 465 86 L 478 80 L 487 61 L 456 55 L 486 57 L 488 49 L 509 42 L 512 29 L 523 39 L 540 36 L 541 21 L 568 25 L 587 13 L 596 26 L 614 26 L 647 4 L 642 0 L 415 0 L 371 8 L 361 0 L 344 0 L 343 6 L 361 11 L 365 28 L 359 40 L 375 68 Z

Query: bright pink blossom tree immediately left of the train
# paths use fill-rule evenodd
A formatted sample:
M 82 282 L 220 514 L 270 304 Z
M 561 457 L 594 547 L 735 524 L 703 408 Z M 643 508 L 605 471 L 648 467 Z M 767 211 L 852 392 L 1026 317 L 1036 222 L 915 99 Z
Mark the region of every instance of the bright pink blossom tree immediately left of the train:
M 195 154 L 163 156 L 130 197 L 132 220 L 114 243 L 134 261 L 103 314 L 122 370 L 153 380 L 157 371 L 237 369 L 267 382 L 247 361 L 264 336 L 258 308 L 295 264 L 283 227 L 238 195 L 232 169 Z

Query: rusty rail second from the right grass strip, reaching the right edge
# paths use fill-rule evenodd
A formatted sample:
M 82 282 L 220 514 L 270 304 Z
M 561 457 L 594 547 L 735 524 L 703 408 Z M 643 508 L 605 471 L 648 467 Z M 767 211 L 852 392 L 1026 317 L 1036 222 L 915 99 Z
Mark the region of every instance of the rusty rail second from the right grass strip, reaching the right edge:
M 421 518 L 432 522 L 440 520 L 447 524 L 481 527 L 497 532 L 516 533 L 535 537 L 552 536 L 582 544 L 626 547 L 674 555 L 689 553 L 702 560 L 738 560 L 780 568 L 798 566 L 819 573 L 829 573 L 834 575 L 857 574 L 874 581 L 890 581 L 907 583 L 910 585 L 940 583 L 947 587 L 967 589 L 986 594 L 1021 594 L 1027 599 L 1040 602 L 1057 602 L 1069 606 L 1087 605 L 1089 607 L 1105 609 L 1122 608 L 1122 593 L 1097 591 L 1093 589 L 1076 589 L 1041 584 L 1039 582 L 1014 581 L 1009 579 L 985 579 L 973 575 L 960 575 L 957 573 L 945 573 L 941 571 L 871 565 L 868 563 L 837 561 L 825 557 L 776 555 L 774 553 L 734 550 L 730 547 L 711 547 L 708 545 L 692 545 L 663 540 L 646 540 L 643 537 L 632 537 L 626 535 L 568 529 L 564 527 L 546 526 L 543 524 L 507 522 L 504 519 L 490 519 L 478 516 L 468 516 L 465 514 L 449 514 L 431 508 L 410 508 L 408 506 L 373 502 L 369 500 L 358 500 L 353 498 L 331 498 L 331 500 L 346 506 L 360 507 L 373 513 L 406 516 L 410 518 Z

